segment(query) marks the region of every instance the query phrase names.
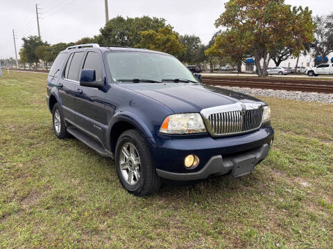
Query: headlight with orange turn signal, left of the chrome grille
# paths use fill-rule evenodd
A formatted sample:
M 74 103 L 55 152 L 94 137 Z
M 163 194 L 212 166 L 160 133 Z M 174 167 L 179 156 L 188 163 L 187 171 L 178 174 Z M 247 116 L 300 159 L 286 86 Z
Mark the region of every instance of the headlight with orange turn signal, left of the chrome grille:
M 206 132 L 199 113 L 181 113 L 168 116 L 160 128 L 161 133 L 184 134 Z

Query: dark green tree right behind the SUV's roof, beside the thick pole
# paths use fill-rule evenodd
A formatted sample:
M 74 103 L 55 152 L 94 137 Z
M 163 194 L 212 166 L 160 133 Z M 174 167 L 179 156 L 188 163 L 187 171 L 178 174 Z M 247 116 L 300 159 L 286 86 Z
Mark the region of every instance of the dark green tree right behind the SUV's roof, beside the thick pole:
M 114 17 L 100 29 L 101 34 L 96 35 L 94 39 L 100 44 L 110 44 L 118 46 L 138 46 L 141 42 L 140 32 L 145 30 L 154 30 L 157 32 L 160 28 L 167 26 L 165 19 L 157 17 Z M 169 26 L 172 28 L 171 26 Z

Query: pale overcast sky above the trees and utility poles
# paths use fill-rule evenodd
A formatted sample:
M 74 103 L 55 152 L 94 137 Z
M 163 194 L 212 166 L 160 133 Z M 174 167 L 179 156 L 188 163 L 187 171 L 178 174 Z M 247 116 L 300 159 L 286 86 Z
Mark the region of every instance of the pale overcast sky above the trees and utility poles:
M 197 35 L 207 44 L 216 32 L 214 21 L 228 0 L 108 0 L 109 18 L 163 17 L 180 35 Z M 104 0 L 0 0 L 0 58 L 15 57 L 22 37 L 37 35 L 35 4 L 40 14 L 40 35 L 49 44 L 76 42 L 93 37 L 105 24 Z M 286 0 L 292 6 L 308 6 L 314 15 L 333 11 L 332 0 Z

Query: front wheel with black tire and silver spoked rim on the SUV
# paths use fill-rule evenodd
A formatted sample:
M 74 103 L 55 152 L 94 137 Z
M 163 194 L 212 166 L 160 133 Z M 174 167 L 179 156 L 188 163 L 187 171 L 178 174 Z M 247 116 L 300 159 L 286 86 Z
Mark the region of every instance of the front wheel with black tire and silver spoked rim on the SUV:
M 119 136 L 115 164 L 119 181 L 130 194 L 146 196 L 159 190 L 162 180 L 157 176 L 146 138 L 137 130 L 130 129 Z

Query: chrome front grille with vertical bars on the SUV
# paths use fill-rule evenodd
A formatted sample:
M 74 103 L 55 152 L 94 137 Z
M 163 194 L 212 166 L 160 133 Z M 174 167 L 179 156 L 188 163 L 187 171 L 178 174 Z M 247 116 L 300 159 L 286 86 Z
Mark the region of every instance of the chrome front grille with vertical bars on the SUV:
M 258 129 L 262 125 L 262 105 L 230 104 L 201 111 L 213 136 L 227 136 Z M 243 114 L 243 115 L 242 115 Z

